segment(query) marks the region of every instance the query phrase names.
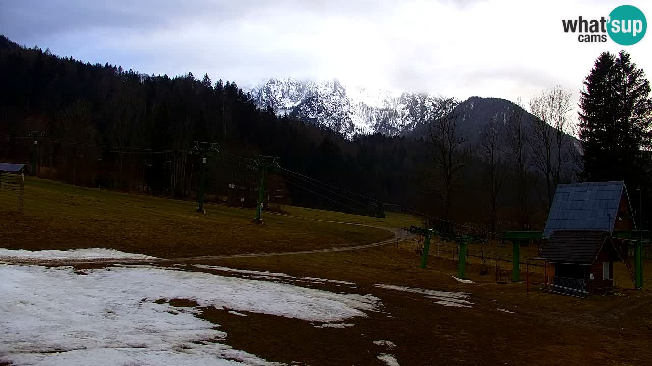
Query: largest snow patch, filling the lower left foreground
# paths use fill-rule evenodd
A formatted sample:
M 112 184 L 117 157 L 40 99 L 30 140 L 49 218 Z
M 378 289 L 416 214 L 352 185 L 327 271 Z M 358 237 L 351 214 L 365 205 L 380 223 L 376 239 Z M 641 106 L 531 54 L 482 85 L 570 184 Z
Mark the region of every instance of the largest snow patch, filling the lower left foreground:
M 278 365 L 223 342 L 200 307 L 318 322 L 366 317 L 374 296 L 170 268 L 0 266 L 0 363 L 16 365 Z

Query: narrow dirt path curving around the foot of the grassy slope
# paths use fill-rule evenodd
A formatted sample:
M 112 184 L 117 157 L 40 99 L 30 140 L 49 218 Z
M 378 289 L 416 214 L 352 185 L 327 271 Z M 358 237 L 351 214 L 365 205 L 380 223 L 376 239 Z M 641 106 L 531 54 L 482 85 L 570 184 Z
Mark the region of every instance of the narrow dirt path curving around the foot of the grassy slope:
M 333 251 L 350 251 L 357 249 L 366 249 L 369 247 L 382 246 L 384 244 L 398 244 L 404 240 L 409 240 L 413 238 L 413 234 L 404 231 L 399 228 L 389 228 L 389 227 L 379 227 L 374 225 L 366 225 L 361 223 L 347 223 L 342 221 L 329 221 L 329 220 L 320 220 L 320 219 L 310 219 L 310 218 L 301 218 L 308 219 L 312 221 L 324 221 L 332 223 L 342 223 L 346 225 L 357 225 L 357 226 L 366 226 L 373 227 L 376 229 L 383 229 L 391 231 L 394 235 L 392 238 L 382 240 L 381 242 L 376 242 L 372 244 L 362 244 L 357 246 L 346 246 L 346 247 L 331 247 L 324 249 L 312 249 L 304 251 L 284 251 L 284 252 L 273 252 L 273 253 L 244 253 L 244 254 L 231 254 L 231 255 L 202 255 L 198 257 L 182 257 L 182 258 L 166 258 L 166 259 L 93 259 L 93 260 L 83 260 L 83 259 L 69 259 L 69 260 L 29 260 L 25 262 L 10 262 L 10 264 L 16 265 L 48 265 L 48 266 L 67 266 L 74 264 L 133 264 L 133 263 L 171 263 L 171 262 L 196 262 L 198 260 L 214 260 L 214 259 L 234 259 L 234 258 L 248 258 L 248 257 L 273 257 L 276 255 L 294 255 L 294 254 L 308 254 L 308 253 L 327 253 Z M 2 262 L 0 262 L 2 263 Z

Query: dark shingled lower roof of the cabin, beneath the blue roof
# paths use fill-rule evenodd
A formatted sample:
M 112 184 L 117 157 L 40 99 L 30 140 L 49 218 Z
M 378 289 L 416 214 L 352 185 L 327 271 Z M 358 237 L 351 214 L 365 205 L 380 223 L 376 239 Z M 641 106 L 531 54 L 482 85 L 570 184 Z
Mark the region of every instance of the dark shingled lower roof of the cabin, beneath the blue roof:
M 609 233 L 606 231 L 555 231 L 541 249 L 548 262 L 593 264 Z

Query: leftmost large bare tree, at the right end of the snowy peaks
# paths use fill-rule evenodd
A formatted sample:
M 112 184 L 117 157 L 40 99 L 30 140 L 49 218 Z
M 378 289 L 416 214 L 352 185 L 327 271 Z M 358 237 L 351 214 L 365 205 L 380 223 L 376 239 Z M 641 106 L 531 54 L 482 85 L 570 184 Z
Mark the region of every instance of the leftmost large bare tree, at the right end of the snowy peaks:
M 470 154 L 466 149 L 468 137 L 459 131 L 460 111 L 455 98 L 438 97 L 433 102 L 430 124 L 425 133 L 426 145 L 433 159 L 434 168 L 443 181 L 445 218 L 451 219 L 452 191 L 460 169 L 469 165 Z

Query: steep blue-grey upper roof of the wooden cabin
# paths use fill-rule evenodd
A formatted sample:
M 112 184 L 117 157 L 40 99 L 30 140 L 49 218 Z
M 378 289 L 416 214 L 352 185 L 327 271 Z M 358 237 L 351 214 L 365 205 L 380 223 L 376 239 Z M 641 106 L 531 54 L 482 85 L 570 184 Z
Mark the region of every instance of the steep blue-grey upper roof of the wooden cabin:
M 612 232 L 625 182 L 557 184 L 543 236 L 557 230 Z

